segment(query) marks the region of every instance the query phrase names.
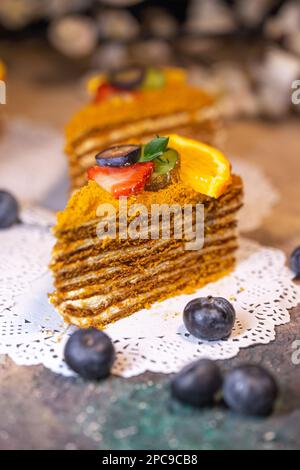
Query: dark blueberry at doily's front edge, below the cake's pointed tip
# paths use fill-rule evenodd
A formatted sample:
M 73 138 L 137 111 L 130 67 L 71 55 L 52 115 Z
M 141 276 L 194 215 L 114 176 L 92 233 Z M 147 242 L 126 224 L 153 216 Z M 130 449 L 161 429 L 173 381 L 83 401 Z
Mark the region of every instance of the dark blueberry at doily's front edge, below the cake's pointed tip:
M 95 328 L 77 330 L 65 346 L 66 363 L 86 379 L 107 377 L 114 359 L 115 349 L 111 339 Z

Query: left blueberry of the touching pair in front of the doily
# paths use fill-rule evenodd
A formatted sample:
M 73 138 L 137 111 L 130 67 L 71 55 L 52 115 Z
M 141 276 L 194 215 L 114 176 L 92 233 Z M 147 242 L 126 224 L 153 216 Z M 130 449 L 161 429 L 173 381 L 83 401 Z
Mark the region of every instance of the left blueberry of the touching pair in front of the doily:
M 201 407 L 213 403 L 221 386 L 218 366 L 209 359 L 200 359 L 184 367 L 174 377 L 171 392 L 178 400 Z

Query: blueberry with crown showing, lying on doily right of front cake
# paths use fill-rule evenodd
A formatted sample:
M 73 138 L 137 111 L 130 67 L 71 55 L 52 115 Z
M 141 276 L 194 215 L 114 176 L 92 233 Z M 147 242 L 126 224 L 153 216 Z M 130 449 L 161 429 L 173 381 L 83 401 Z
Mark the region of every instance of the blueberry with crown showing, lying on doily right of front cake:
M 200 297 L 185 306 L 183 322 L 196 338 L 208 341 L 226 339 L 234 326 L 235 310 L 222 297 Z

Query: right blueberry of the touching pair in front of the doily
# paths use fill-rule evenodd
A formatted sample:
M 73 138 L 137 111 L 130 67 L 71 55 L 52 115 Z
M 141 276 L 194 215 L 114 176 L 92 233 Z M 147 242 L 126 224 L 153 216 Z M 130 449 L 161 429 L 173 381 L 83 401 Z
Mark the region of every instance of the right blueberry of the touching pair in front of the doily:
M 226 404 L 238 413 L 267 416 L 273 410 L 278 388 L 266 369 L 248 364 L 227 374 L 223 395 Z

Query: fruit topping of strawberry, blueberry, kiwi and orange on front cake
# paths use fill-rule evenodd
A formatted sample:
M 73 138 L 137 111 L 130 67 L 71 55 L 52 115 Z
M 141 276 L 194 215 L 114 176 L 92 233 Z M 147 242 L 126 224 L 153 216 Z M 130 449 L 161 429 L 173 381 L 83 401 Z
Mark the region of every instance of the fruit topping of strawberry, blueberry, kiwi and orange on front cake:
M 218 197 L 231 180 L 230 164 L 221 152 L 178 135 L 111 147 L 96 155 L 96 163 L 88 178 L 115 198 L 157 191 L 179 177 L 195 191 Z

